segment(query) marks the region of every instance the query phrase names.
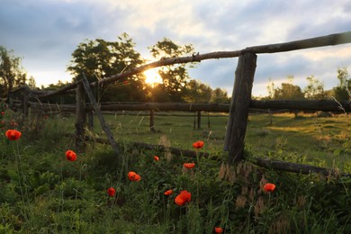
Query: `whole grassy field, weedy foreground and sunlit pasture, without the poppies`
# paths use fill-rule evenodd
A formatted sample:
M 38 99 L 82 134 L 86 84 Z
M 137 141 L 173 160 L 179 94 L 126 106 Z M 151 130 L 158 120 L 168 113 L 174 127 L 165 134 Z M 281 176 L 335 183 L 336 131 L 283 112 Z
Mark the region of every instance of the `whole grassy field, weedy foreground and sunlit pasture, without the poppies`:
M 88 142 L 76 160 L 74 116 L 31 116 L 11 126 L 6 112 L 1 140 L 0 233 L 347 233 L 351 231 L 351 179 L 276 172 L 250 164 L 226 166 L 223 142 L 227 116 L 163 112 L 155 117 L 106 114 L 120 142 L 122 158 L 111 146 Z M 208 126 L 210 121 L 210 127 Z M 97 120 L 88 135 L 104 138 Z M 351 118 L 315 114 L 250 115 L 247 157 L 272 157 L 338 168 L 351 173 Z M 9 140 L 8 129 L 22 136 Z M 130 141 L 193 149 L 210 157 L 184 157 L 130 147 Z M 155 160 L 157 156 L 159 160 Z M 193 168 L 184 163 L 195 163 Z M 141 176 L 130 180 L 130 171 Z M 264 185 L 276 188 L 266 192 Z M 108 193 L 113 188 L 115 193 Z M 165 195 L 166 190 L 174 193 Z M 181 191 L 190 201 L 175 203 Z

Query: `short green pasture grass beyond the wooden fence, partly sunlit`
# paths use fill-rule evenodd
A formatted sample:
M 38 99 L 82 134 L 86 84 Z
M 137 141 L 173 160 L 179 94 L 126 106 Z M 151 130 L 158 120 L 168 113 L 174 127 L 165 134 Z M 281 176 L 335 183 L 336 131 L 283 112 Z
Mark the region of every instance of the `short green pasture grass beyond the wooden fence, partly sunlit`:
M 191 149 L 194 141 L 202 139 L 207 143 L 206 150 L 223 154 L 227 114 L 210 117 L 203 114 L 201 130 L 193 130 L 193 116 L 182 114 L 156 116 L 157 132 L 149 130 L 148 115 L 105 115 L 105 118 L 118 139 L 151 144 L 166 140 L 173 147 L 186 149 Z M 295 118 L 293 114 L 284 113 L 273 115 L 272 125 L 270 121 L 268 114 L 249 116 L 245 142 L 254 157 L 278 157 L 351 173 L 350 115 L 329 118 L 301 113 Z M 95 131 L 104 137 L 97 120 L 95 126 Z

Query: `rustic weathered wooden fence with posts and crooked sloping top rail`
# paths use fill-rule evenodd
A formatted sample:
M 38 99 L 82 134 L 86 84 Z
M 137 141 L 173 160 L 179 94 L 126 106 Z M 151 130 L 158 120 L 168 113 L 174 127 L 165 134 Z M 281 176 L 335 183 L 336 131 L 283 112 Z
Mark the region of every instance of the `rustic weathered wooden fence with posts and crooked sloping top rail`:
M 254 82 L 255 71 L 257 67 L 257 54 L 260 53 L 275 53 L 284 52 L 295 49 L 309 49 L 324 46 L 333 46 L 338 44 L 350 43 L 351 31 L 344 33 L 330 34 L 327 36 L 311 38 L 306 40 L 295 40 L 286 43 L 270 44 L 257 47 L 249 47 L 235 51 L 219 51 L 207 54 L 197 54 L 182 58 L 164 58 L 157 62 L 149 63 L 144 66 L 130 69 L 120 74 L 109 76 L 100 79 L 97 82 L 89 84 L 86 77 L 83 80 L 76 81 L 65 86 L 62 89 L 47 93 L 33 93 L 30 90 L 23 88 L 23 115 L 28 114 L 28 106 L 33 105 L 30 100 L 40 100 L 40 98 L 49 97 L 52 95 L 66 94 L 72 89 L 76 89 L 76 105 L 74 107 L 68 105 L 59 105 L 59 110 L 73 111 L 76 110 L 76 148 L 82 148 L 85 140 L 85 125 L 86 112 L 94 110 L 99 118 L 104 132 L 109 139 L 112 148 L 119 152 L 118 144 L 113 139 L 111 131 L 106 126 L 101 111 L 116 111 L 116 110 L 148 110 L 150 114 L 154 111 L 188 111 L 188 112 L 229 112 L 229 121 L 227 124 L 227 132 L 225 138 L 224 150 L 229 152 L 229 164 L 237 163 L 244 159 L 244 139 L 247 130 L 247 115 L 250 108 L 256 109 L 289 109 L 289 110 L 313 110 L 313 111 L 331 111 L 331 112 L 350 112 L 351 102 L 337 102 L 333 100 L 319 101 L 255 101 L 251 100 L 252 85 Z M 98 105 L 95 101 L 94 94 L 91 91 L 92 86 L 100 86 L 111 84 L 112 82 L 123 77 L 132 76 L 154 67 L 168 66 L 174 64 L 200 62 L 204 59 L 211 58 L 235 58 L 238 57 L 238 66 L 235 72 L 235 80 L 230 104 L 200 104 L 200 103 L 112 103 Z M 85 100 L 85 94 L 88 95 L 90 104 Z M 13 103 L 9 94 L 9 104 Z M 38 103 L 37 103 L 38 104 Z M 39 103 L 42 107 L 44 103 Z M 55 105 L 50 105 L 50 108 L 55 108 Z M 201 118 L 201 114 L 198 114 Z M 117 154 L 118 155 L 118 154 Z M 261 163 L 259 163 L 261 162 Z M 273 162 L 273 161 L 272 161 Z M 262 159 L 256 161 L 260 166 L 273 166 L 277 169 L 284 169 L 289 163 L 267 163 L 267 160 Z M 283 166 L 282 166 L 283 165 Z M 288 166 L 294 168 L 294 166 Z M 313 167 L 313 166 L 312 166 Z M 290 171 L 295 172 L 320 172 L 330 173 L 330 170 L 315 167 L 309 167 L 307 171 L 302 169 L 302 166 L 297 166 Z

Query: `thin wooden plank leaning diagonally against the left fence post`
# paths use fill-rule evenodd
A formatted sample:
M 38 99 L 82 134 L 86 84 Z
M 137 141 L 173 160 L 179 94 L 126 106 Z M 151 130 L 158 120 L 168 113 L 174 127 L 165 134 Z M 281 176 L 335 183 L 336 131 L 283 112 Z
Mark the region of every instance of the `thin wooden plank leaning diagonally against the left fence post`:
M 100 111 L 99 105 L 96 103 L 96 100 L 94 98 L 94 94 L 93 94 L 93 92 L 92 92 L 92 90 L 90 88 L 89 82 L 87 81 L 87 79 L 85 77 L 85 74 L 83 74 L 83 76 L 84 76 L 84 78 L 83 78 L 82 82 L 83 82 L 83 85 L 85 87 L 85 92 L 86 92 L 86 94 L 89 97 L 90 103 L 93 104 L 94 112 L 96 113 L 96 115 L 97 115 L 97 117 L 98 117 L 98 119 L 100 121 L 100 125 L 101 125 L 104 133 L 106 134 L 107 139 L 109 139 L 110 144 L 111 144 L 114 152 L 116 152 L 117 158 L 121 159 L 121 156 L 119 154 L 120 153 L 120 148 L 118 147 L 116 141 L 113 138 L 112 131 L 109 129 L 109 127 L 107 126 L 106 122 L 104 121 L 103 114 Z

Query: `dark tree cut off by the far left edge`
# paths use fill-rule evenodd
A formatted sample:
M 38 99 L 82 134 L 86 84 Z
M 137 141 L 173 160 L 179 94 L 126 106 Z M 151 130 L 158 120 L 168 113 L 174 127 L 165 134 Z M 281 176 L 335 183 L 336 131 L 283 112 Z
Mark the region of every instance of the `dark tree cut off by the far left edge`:
M 27 74 L 21 66 L 21 58 L 15 57 L 14 50 L 0 46 L 0 89 L 4 97 L 14 87 L 25 85 Z

